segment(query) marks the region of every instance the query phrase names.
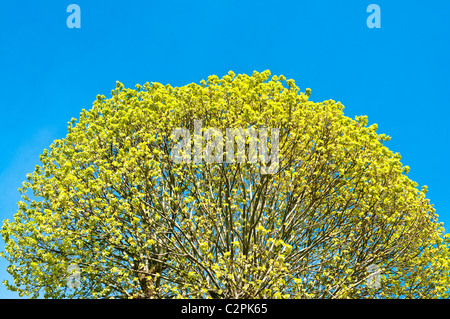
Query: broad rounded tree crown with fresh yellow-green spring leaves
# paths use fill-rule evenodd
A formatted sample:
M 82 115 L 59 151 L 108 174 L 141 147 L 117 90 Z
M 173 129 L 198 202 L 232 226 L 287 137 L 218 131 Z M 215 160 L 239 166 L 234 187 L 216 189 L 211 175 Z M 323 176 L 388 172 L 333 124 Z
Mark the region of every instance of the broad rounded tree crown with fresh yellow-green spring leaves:
M 46 298 L 447 297 L 448 235 L 389 137 L 269 77 L 118 82 L 97 96 L 19 189 L 2 227 L 6 286 Z M 278 156 L 225 161 L 239 151 L 233 137 L 222 160 L 189 162 L 212 140 L 177 148 L 174 132 L 198 130 L 196 120 L 221 132 L 276 128 L 277 143 L 273 130 L 257 142 Z M 368 284 L 374 266 L 379 285 Z

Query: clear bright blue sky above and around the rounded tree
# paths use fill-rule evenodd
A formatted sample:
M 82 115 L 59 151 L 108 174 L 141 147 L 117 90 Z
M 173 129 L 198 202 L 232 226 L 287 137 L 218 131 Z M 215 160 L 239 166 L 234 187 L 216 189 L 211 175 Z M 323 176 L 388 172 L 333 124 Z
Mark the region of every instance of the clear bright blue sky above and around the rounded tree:
M 0 6 L 0 221 L 13 219 L 39 154 L 116 81 L 183 86 L 270 70 L 377 123 L 450 224 L 450 1 L 72 1 Z M 79 29 L 66 24 L 72 3 Z M 366 24 L 371 3 L 380 29 Z M 1 285 L 0 298 L 18 295 Z

